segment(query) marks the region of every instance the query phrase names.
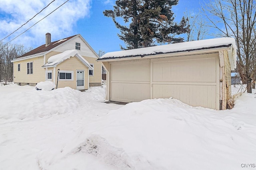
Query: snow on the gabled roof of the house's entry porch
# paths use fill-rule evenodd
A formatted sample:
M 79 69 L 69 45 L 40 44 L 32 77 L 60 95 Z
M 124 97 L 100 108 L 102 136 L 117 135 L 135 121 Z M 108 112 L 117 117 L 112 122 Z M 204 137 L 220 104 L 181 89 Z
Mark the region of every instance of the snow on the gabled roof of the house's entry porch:
M 76 56 L 85 66 L 87 66 L 89 70 L 93 70 L 92 66 L 88 63 L 88 61 L 86 61 L 86 59 L 84 59 L 84 57 L 82 57 L 76 50 L 67 50 L 63 53 L 53 55 L 48 59 L 48 63 L 44 64 L 42 67 L 54 67 L 62 63 L 62 61 L 70 59 L 70 57 L 74 56 Z

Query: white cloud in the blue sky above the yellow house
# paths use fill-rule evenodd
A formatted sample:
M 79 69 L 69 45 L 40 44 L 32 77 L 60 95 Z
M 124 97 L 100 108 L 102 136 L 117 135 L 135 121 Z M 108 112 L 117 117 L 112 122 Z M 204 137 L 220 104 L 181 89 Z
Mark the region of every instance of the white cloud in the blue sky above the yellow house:
M 0 39 L 12 33 L 50 2 L 52 0 L 0 0 Z M 5 39 L 4 42 L 8 42 L 19 35 L 64 2 L 66 0 L 54 1 L 33 20 Z M 44 43 L 45 33 L 48 32 L 52 34 L 53 41 L 74 35 L 73 27 L 76 22 L 89 16 L 90 3 L 91 0 L 69 0 L 11 43 L 23 44 L 25 47 L 39 46 Z

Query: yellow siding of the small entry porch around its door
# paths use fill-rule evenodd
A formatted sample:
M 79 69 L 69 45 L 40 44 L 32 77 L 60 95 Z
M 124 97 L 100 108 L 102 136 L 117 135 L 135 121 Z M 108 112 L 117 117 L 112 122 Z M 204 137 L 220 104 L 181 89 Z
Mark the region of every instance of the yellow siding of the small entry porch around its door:
M 73 71 L 73 80 L 58 80 L 58 88 L 70 87 L 76 89 L 76 70 L 84 70 L 84 88 L 88 89 L 88 68 L 76 57 L 70 57 L 56 66 L 55 84 L 57 84 L 58 69 Z M 54 72 L 52 71 L 52 75 Z

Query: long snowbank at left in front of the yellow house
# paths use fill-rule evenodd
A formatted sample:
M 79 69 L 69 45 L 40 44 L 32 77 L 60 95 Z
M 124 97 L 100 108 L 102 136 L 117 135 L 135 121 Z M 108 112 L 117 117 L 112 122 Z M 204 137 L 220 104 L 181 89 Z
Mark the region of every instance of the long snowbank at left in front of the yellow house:
M 29 87 L 30 88 L 30 87 Z M 60 88 L 52 91 L 36 90 L 0 94 L 0 119 L 33 119 L 52 114 L 74 112 L 80 106 L 78 90 Z

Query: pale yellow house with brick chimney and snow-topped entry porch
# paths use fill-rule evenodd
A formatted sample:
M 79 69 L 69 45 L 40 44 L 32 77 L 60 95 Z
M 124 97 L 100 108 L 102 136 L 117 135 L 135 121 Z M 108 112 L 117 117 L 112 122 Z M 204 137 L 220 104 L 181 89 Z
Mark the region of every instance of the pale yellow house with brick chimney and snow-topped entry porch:
M 50 80 L 58 88 L 70 87 L 86 90 L 101 86 L 101 63 L 97 53 L 78 34 L 51 42 L 46 33 L 46 43 L 12 60 L 14 83 L 35 86 Z

